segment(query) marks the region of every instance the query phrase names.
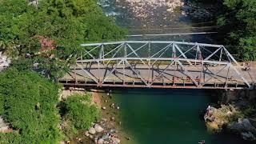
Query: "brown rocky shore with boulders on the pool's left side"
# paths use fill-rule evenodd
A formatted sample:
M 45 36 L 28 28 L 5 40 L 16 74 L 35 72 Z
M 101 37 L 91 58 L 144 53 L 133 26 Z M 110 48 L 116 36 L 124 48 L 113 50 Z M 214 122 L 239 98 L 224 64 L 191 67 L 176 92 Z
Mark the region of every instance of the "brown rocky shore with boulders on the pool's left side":
M 70 88 L 62 92 L 62 98 L 70 94 L 82 94 L 88 90 L 81 88 Z M 111 90 L 89 90 L 92 96 L 92 104 L 101 109 L 102 118 L 92 123 L 88 130 L 80 130 L 72 141 L 66 143 L 86 143 L 86 144 L 118 144 L 121 141 L 129 140 L 119 131 L 122 122 L 119 121 L 118 113 L 120 107 L 112 100 Z M 122 136 L 121 136 L 122 135 Z M 122 138 L 121 138 L 122 137 Z

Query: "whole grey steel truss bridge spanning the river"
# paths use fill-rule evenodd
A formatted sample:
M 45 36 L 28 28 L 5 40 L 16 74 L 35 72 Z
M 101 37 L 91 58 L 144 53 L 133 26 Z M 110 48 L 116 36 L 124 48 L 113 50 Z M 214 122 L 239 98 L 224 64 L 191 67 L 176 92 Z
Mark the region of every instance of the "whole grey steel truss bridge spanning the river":
M 66 86 L 254 88 L 255 73 L 242 70 L 222 45 L 125 41 L 81 46 L 75 65 L 58 82 Z

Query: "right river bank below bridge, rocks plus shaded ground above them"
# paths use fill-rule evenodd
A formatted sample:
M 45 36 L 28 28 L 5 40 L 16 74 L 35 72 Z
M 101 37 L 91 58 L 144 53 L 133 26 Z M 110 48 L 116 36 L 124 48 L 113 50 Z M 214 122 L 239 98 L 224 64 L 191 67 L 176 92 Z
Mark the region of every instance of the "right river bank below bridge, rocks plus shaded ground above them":
M 218 104 L 208 106 L 204 115 L 207 128 L 256 142 L 256 90 L 219 90 L 215 93 L 219 95 Z

